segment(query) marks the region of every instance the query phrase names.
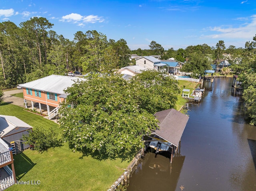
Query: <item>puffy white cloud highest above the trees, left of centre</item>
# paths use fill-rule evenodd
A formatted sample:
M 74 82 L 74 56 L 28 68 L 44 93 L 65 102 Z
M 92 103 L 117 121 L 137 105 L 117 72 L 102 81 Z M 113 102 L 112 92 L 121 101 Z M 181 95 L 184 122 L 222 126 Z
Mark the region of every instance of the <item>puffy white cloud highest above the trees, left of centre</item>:
M 60 21 L 78 23 L 78 26 L 84 26 L 84 23 L 102 23 L 104 22 L 104 19 L 96 15 L 82 16 L 80 14 L 72 13 L 63 16 Z

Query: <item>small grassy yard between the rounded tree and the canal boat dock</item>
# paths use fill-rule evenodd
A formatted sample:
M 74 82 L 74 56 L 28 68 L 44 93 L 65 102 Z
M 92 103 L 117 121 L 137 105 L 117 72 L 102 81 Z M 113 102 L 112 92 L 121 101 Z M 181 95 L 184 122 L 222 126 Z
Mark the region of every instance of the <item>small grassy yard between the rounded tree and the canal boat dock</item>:
M 190 94 L 191 94 L 198 83 L 191 82 L 191 81 L 186 81 L 186 80 L 179 80 L 178 82 L 179 82 L 181 91 L 180 91 L 180 94 L 178 95 L 178 101 L 176 103 L 176 109 L 180 110 L 180 108 L 182 108 L 182 106 L 184 106 L 184 104 L 187 102 L 186 99 L 182 98 L 182 90 L 183 89 L 190 89 Z

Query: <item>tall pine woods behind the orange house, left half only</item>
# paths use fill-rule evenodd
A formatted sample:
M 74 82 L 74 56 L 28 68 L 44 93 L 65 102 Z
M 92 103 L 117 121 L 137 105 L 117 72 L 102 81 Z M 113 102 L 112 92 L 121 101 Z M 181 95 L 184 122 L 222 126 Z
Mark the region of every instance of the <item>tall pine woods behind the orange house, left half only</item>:
M 68 71 L 105 71 L 129 64 L 124 39 L 115 41 L 95 30 L 78 31 L 70 41 L 51 30 L 54 24 L 34 17 L 16 26 L 0 23 L 0 89 L 12 88 Z

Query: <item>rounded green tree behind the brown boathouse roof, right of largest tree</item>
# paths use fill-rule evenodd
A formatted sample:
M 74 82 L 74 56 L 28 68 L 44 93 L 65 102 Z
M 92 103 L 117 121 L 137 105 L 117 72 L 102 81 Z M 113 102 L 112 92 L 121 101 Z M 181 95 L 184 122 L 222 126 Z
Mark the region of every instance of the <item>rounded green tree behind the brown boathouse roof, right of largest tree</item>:
M 134 95 L 140 101 L 140 106 L 150 113 L 175 108 L 180 89 L 178 81 L 172 76 L 148 70 L 136 75 L 131 83 L 138 87 Z

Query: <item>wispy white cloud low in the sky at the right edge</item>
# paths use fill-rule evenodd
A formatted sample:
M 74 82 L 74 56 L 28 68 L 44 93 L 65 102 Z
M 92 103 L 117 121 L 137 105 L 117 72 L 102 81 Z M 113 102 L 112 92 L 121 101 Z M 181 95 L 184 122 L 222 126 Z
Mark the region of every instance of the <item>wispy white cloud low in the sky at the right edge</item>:
M 208 30 L 217 32 L 212 35 L 205 35 L 204 37 L 210 38 L 237 38 L 237 39 L 248 39 L 252 38 L 256 33 L 256 15 L 250 17 L 250 22 L 247 22 L 240 27 L 223 27 L 216 26 L 210 27 Z

